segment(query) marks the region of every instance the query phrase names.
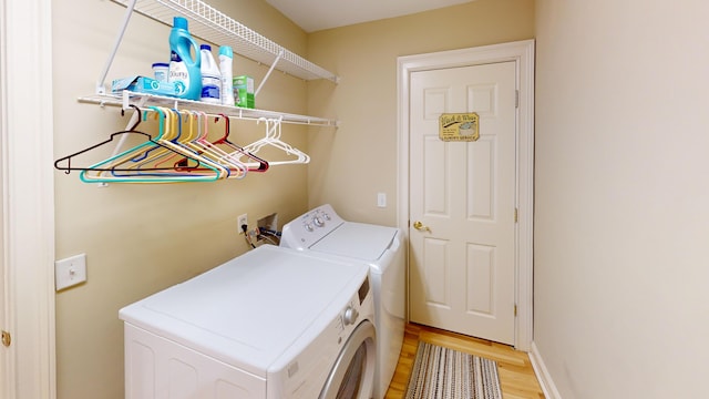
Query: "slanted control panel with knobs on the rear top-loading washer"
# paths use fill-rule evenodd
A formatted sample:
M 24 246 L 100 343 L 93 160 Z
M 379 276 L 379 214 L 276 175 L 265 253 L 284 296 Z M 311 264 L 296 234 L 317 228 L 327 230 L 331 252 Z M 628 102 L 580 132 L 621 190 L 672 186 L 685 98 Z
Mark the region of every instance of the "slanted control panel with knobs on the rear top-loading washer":
M 307 249 L 342 223 L 345 221 L 335 213 L 330 204 L 320 205 L 284 226 L 280 246 Z

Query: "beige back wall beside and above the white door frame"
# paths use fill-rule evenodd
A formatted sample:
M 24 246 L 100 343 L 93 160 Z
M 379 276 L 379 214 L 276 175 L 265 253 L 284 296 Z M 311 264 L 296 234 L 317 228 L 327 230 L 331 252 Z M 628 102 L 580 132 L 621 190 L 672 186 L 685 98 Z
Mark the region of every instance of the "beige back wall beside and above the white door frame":
M 534 1 L 479 0 L 414 16 L 311 33 L 308 57 L 336 72 L 337 88 L 310 83 L 312 114 L 337 117 L 310 134 L 311 206 L 350 219 L 397 223 L 397 58 L 534 37 Z M 377 207 L 377 193 L 388 207 Z

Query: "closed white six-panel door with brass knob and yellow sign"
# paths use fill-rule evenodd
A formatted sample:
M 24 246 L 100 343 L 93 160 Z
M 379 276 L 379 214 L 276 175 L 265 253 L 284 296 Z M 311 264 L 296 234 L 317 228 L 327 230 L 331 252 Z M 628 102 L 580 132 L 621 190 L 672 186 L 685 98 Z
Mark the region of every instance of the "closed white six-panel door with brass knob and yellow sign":
M 411 320 L 514 341 L 515 63 L 411 73 Z M 443 142 L 442 113 L 480 140 Z M 420 222 L 419 228 L 413 227 Z

